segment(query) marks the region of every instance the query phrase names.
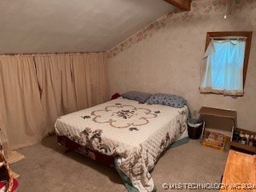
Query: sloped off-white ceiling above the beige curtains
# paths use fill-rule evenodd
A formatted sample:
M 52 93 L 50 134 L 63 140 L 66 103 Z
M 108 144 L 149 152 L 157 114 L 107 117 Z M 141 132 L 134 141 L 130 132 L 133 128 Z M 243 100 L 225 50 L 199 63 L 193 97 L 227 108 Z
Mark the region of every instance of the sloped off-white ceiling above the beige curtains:
M 1 0 L 0 54 L 109 50 L 174 9 L 163 0 Z

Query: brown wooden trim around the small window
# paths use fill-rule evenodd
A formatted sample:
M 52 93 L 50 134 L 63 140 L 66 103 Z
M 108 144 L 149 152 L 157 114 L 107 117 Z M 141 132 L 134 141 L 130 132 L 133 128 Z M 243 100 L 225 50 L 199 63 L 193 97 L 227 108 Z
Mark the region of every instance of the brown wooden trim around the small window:
M 246 73 L 247 73 L 247 67 L 248 67 L 248 62 L 249 62 L 252 34 L 253 34 L 252 31 L 221 31 L 221 32 L 207 32 L 207 35 L 206 35 L 206 49 L 210 43 L 210 38 L 218 39 L 218 37 L 226 37 L 226 36 L 246 37 L 246 50 L 245 50 L 245 58 L 243 61 L 243 73 L 242 73 L 243 89 L 245 88 L 245 83 L 246 83 Z

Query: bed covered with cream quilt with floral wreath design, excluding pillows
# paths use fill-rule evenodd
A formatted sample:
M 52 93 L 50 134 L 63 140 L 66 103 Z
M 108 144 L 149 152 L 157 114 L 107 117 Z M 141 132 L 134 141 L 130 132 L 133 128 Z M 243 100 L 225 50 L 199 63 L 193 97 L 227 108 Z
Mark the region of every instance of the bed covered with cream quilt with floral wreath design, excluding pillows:
M 188 138 L 187 106 L 174 108 L 116 98 L 55 122 L 58 143 L 114 166 L 128 191 L 154 191 L 150 175 L 171 144 Z

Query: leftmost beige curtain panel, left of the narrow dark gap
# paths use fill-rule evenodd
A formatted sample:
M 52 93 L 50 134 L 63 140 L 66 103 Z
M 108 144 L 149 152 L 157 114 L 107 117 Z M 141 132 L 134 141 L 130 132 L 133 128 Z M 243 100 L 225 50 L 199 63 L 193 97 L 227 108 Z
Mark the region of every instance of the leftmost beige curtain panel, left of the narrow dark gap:
M 6 146 L 17 149 L 40 142 L 46 130 L 33 57 L 0 57 L 0 96 L 2 140 Z

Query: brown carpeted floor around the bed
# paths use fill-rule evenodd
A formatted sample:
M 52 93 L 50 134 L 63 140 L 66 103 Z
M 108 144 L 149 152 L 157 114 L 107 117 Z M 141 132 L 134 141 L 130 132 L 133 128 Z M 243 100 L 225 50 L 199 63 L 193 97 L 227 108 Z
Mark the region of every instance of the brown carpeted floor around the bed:
M 18 192 L 126 191 L 114 168 L 65 151 L 58 146 L 55 136 L 45 138 L 39 145 L 19 149 L 26 158 L 11 165 L 21 175 Z M 189 191 L 164 190 L 162 183 L 219 183 L 227 155 L 227 150 L 206 148 L 191 139 L 167 150 L 151 173 L 157 191 Z

